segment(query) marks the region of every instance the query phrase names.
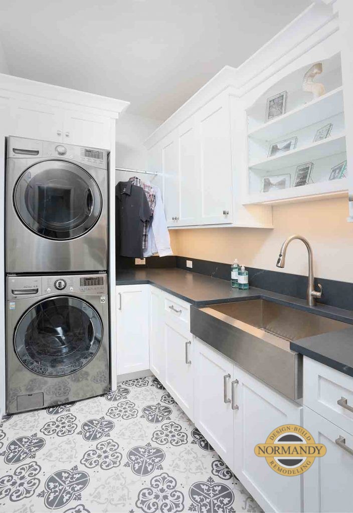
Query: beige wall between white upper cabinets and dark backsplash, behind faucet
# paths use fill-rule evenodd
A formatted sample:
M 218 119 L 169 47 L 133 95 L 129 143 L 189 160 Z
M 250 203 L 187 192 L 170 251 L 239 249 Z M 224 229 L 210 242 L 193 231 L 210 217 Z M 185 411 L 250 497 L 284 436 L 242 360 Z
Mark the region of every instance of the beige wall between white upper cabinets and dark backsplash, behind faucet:
M 200 228 L 171 230 L 174 254 L 181 257 L 241 264 L 279 272 L 307 274 L 307 251 L 291 242 L 283 269 L 276 267 L 287 236 L 299 233 L 311 243 L 319 278 L 353 282 L 353 223 L 347 223 L 347 199 L 330 199 L 273 207 L 272 230 Z

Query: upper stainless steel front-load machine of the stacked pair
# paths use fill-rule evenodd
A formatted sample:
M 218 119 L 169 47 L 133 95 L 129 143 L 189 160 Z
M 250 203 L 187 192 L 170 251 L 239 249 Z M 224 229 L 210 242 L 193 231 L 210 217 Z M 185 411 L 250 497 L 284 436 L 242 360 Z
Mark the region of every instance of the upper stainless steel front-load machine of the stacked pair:
M 8 137 L 6 272 L 107 269 L 107 157 Z

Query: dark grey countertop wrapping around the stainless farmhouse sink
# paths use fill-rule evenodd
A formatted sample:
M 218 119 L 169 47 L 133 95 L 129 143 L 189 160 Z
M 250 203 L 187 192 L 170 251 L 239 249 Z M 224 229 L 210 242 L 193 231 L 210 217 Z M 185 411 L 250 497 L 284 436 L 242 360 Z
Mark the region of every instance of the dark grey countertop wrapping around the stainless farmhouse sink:
M 275 303 L 316 313 L 323 317 L 351 324 L 352 327 L 297 340 L 290 343 L 293 351 L 353 376 L 353 311 L 327 305 L 308 306 L 305 300 L 250 287 L 233 289 L 227 280 L 178 268 L 124 269 L 116 273 L 116 285 L 151 284 L 165 292 L 201 307 L 248 299 L 267 299 Z

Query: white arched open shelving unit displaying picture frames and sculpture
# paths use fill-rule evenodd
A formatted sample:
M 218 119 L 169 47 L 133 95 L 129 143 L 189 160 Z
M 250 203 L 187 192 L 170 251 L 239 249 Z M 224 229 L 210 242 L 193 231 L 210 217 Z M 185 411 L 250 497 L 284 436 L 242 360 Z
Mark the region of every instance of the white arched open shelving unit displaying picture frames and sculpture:
M 247 109 L 248 191 L 244 205 L 323 199 L 347 193 L 340 55 L 322 63 L 323 73 L 315 80 L 325 85 L 322 96 L 313 99 L 312 93 L 302 90 L 303 76 L 315 64 L 312 63 L 282 78 Z M 267 98 L 281 91 L 287 91 L 289 110 L 264 122 Z M 299 185 L 295 179 L 297 169 L 305 165 L 310 172 L 306 183 Z M 332 170 L 340 166 L 340 177 L 332 179 Z

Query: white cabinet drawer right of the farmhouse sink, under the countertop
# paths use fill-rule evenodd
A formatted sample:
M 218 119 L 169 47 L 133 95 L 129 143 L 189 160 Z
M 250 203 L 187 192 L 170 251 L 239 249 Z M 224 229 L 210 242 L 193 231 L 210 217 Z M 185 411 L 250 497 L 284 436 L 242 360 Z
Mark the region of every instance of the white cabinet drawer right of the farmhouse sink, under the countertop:
M 303 403 L 353 435 L 353 378 L 304 358 Z

